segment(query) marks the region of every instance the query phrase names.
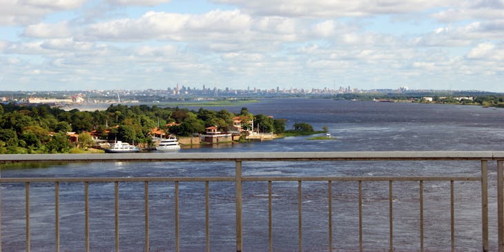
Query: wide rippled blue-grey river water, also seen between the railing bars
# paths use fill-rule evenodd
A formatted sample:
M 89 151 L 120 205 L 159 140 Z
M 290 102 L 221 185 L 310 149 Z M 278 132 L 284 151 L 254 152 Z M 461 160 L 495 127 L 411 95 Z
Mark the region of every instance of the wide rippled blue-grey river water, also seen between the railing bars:
M 504 109 L 441 104 L 269 99 L 246 104 L 253 114 L 327 126 L 335 140 L 286 137 L 268 142 L 183 148 L 198 152 L 289 151 L 503 151 Z M 197 110 L 195 107 L 191 107 Z M 225 108 L 237 113 L 240 107 Z M 479 162 L 244 162 L 245 176 L 478 176 Z M 496 164 L 489 163 L 490 197 L 495 197 Z M 1 177 L 174 177 L 234 176 L 234 164 L 88 163 L 2 166 Z M 298 250 L 298 183 L 273 182 L 274 251 Z M 363 235 L 366 251 L 389 247 L 388 182 L 363 183 Z M 418 182 L 394 182 L 394 248 L 418 251 Z M 481 250 L 481 198 L 478 182 L 455 183 L 455 230 L 458 251 Z M 244 183 L 244 251 L 268 249 L 267 183 Z M 90 184 L 91 251 L 114 250 L 114 186 Z M 233 184 L 210 184 L 211 251 L 235 249 Z M 25 251 L 24 184 L 3 184 L 2 248 Z M 327 182 L 302 186 L 303 249 L 327 251 Z M 333 247 L 358 250 L 358 183 L 333 182 Z M 144 184 L 119 184 L 122 251 L 144 249 Z M 449 182 L 425 182 L 425 248 L 450 251 Z M 32 251 L 54 251 L 54 185 L 31 184 Z M 175 248 L 174 184 L 149 184 L 151 251 Z M 84 251 L 84 186 L 61 184 L 62 251 Z M 204 251 L 204 183 L 180 183 L 180 248 Z M 489 201 L 490 244 L 496 249 L 496 202 Z

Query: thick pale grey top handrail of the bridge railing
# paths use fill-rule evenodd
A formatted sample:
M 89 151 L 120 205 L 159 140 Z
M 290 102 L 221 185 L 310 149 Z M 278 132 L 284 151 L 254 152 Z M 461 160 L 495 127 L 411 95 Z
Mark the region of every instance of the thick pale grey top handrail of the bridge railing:
M 7 154 L 8 162 L 226 162 L 226 161 L 504 160 L 504 151 L 350 151 L 278 153 Z

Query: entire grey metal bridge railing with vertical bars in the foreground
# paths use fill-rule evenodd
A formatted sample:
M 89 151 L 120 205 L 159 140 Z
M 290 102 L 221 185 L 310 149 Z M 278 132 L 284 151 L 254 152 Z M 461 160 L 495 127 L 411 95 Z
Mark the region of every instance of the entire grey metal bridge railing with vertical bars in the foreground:
M 242 175 L 243 162 L 282 162 L 282 161 L 478 161 L 481 162 L 480 176 L 413 176 L 413 177 L 253 177 Z M 209 215 L 209 183 L 210 182 L 231 182 L 235 184 L 235 243 L 236 251 L 243 249 L 242 235 L 242 184 L 244 182 L 267 182 L 268 183 L 268 233 L 269 251 L 273 251 L 273 215 L 272 215 L 272 182 L 298 182 L 298 249 L 303 250 L 303 215 L 302 215 L 302 182 L 327 182 L 327 232 L 328 251 L 333 251 L 333 182 L 358 182 L 358 230 L 359 249 L 364 250 L 362 235 L 362 182 L 389 182 L 388 183 L 388 203 L 389 203 L 389 251 L 394 251 L 394 215 L 393 215 L 393 195 L 394 182 L 418 182 L 419 186 L 419 211 L 420 211 L 420 251 L 424 251 L 424 182 L 443 181 L 450 185 L 450 240 L 451 249 L 455 251 L 455 229 L 454 229 L 454 182 L 480 182 L 481 184 L 481 249 L 488 251 L 488 162 L 497 162 L 497 203 L 498 203 L 498 251 L 504 251 L 504 178 L 503 178 L 504 152 L 467 152 L 467 151 L 443 151 L 443 152 L 331 152 L 331 153 L 128 153 L 110 155 L 0 155 L 0 163 L 9 162 L 234 162 L 234 177 L 32 177 L 32 178 L 0 178 L 1 183 L 25 183 L 26 195 L 26 251 L 30 251 L 30 184 L 40 182 L 55 183 L 55 246 L 56 251 L 60 247 L 60 216 L 59 216 L 59 184 L 62 182 L 84 183 L 85 200 L 85 249 L 90 250 L 89 239 L 89 183 L 109 182 L 114 183 L 115 188 L 115 250 L 119 251 L 119 183 L 122 182 L 144 182 L 144 217 L 145 217 L 145 237 L 144 247 L 149 251 L 149 182 L 173 182 L 175 184 L 175 251 L 180 251 L 179 234 L 179 183 L 180 182 L 204 182 L 205 183 L 205 237 L 206 251 L 210 251 L 210 215 Z M 494 199 L 492 199 L 494 200 Z M 0 209 L 1 209 L 0 199 Z M 1 216 L 1 213 L 0 213 Z M 1 220 L 1 219 L 0 219 Z M 8 231 L 3 231 L 8 232 Z M 0 224 L 0 241 L 1 241 Z M 264 241 L 266 242 L 266 241 Z M 1 251 L 1 242 L 0 242 Z

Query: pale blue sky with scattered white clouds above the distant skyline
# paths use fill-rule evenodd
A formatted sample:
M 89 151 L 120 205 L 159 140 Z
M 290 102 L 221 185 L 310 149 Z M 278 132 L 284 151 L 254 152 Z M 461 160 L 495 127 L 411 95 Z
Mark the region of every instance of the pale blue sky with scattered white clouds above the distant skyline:
M 504 92 L 504 0 L 0 0 L 0 90 Z

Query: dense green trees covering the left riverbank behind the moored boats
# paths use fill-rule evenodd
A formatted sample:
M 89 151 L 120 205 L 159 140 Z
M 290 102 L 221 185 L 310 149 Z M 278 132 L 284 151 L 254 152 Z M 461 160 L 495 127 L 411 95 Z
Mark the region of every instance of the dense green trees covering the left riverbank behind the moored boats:
M 159 127 L 166 134 L 190 136 L 217 126 L 226 131 L 233 118 L 240 117 L 246 129 L 264 133 L 284 133 L 285 120 L 266 115 L 253 115 L 247 108 L 237 114 L 228 110 L 188 110 L 158 106 L 110 105 L 106 110 L 62 110 L 48 105 L 0 105 L 0 153 L 68 153 L 84 148 L 90 132 L 100 139 L 152 145 L 151 130 Z M 249 122 L 253 122 L 251 125 Z M 172 124 L 168 127 L 166 124 Z M 71 145 L 67 132 L 79 134 L 79 142 Z

